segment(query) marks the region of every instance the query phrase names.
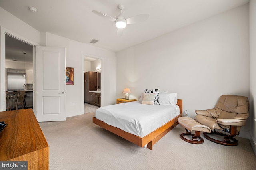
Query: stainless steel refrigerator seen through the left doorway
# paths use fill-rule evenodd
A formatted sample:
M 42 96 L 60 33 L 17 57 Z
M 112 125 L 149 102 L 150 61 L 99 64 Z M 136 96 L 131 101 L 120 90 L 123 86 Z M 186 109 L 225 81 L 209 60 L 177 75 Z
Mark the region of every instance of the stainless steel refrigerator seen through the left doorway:
M 26 90 L 26 73 L 7 73 L 7 90 Z

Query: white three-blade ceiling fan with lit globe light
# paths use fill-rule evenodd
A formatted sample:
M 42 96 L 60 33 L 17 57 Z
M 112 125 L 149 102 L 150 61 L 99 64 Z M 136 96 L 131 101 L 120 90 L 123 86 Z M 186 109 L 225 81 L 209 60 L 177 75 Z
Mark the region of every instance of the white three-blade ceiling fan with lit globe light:
M 138 22 L 142 22 L 142 21 L 147 20 L 148 17 L 149 17 L 149 14 L 140 14 L 140 15 L 132 16 L 130 18 L 125 18 L 122 15 L 122 10 L 124 9 L 124 5 L 118 5 L 117 8 L 120 10 L 120 14 L 116 18 L 113 18 L 113 17 L 111 17 L 107 14 L 104 14 L 102 12 L 92 10 L 92 12 L 94 14 L 97 14 L 98 16 L 101 16 L 103 18 L 106 18 L 110 21 L 115 22 L 115 25 L 117 27 L 117 32 L 116 32 L 117 36 L 122 36 L 123 28 L 125 28 L 127 24 L 135 24 L 135 23 L 138 23 Z

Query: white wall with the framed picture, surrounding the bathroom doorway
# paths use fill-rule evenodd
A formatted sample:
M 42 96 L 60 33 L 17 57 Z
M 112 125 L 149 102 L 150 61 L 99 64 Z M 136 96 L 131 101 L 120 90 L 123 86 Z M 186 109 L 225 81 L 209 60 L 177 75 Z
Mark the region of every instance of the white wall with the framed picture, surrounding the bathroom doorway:
M 92 45 L 77 42 L 46 33 L 46 46 L 66 48 L 66 67 L 74 68 L 74 85 L 66 86 L 66 117 L 80 115 L 84 108 L 84 55 L 102 58 L 102 68 L 108 74 L 102 75 L 102 106 L 112 105 L 116 101 L 115 53 Z M 110 75 L 110 77 L 108 76 Z M 111 82 L 111 83 L 110 83 Z M 114 84 L 114 85 L 113 85 Z M 106 89 L 106 90 L 103 90 Z M 72 104 L 75 103 L 75 106 Z

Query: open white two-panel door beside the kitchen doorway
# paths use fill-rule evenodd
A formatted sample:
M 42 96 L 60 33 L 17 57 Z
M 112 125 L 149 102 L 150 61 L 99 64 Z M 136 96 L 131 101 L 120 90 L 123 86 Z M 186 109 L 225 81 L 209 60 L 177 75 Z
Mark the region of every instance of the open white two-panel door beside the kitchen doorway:
M 36 47 L 36 118 L 65 121 L 66 49 Z

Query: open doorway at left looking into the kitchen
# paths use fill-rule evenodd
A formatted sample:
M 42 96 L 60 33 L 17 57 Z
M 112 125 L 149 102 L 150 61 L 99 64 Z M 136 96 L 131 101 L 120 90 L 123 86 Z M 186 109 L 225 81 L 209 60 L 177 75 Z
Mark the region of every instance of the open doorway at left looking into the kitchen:
M 33 46 L 5 34 L 5 67 L 6 91 L 20 91 L 18 109 L 33 108 Z

